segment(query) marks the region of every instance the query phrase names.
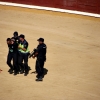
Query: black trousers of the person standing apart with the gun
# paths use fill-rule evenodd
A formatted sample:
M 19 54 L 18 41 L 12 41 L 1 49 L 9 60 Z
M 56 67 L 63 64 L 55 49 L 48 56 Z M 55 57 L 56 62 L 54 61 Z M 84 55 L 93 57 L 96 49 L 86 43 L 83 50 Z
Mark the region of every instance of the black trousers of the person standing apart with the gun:
M 41 77 L 44 73 L 44 59 L 37 59 L 35 68 L 38 76 Z

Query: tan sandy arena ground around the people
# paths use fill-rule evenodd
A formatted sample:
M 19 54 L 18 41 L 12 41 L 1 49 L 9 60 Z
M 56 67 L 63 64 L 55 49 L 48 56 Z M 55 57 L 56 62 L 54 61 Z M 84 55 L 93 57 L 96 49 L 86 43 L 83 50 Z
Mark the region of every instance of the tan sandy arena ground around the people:
M 60 15 L 0 8 L 0 100 L 100 100 L 100 21 Z M 34 59 L 28 76 L 8 73 L 6 38 L 14 31 L 25 34 L 30 51 L 45 39 L 42 82 Z

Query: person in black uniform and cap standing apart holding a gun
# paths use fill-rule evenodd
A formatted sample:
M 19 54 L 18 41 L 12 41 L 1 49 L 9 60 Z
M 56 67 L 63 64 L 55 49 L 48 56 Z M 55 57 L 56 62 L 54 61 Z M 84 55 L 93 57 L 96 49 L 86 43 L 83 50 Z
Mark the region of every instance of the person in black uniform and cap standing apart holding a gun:
M 34 54 L 33 58 L 37 57 L 36 60 L 36 72 L 38 74 L 38 79 L 36 81 L 42 81 L 44 74 L 44 62 L 46 61 L 46 44 L 44 44 L 44 39 L 39 38 L 37 40 L 39 45 L 37 46 L 37 51 Z

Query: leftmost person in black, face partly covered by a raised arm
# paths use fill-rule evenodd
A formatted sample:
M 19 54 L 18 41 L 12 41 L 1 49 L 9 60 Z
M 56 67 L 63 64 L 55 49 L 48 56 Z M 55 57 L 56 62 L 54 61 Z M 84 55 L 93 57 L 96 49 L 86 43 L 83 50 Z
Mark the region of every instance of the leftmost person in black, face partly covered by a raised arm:
M 7 56 L 7 64 L 10 67 L 10 74 L 13 73 L 13 70 L 15 74 L 18 72 L 18 63 L 17 63 L 17 55 L 18 55 L 18 44 L 14 42 L 11 38 L 7 38 L 7 44 L 9 48 L 8 56 Z M 11 60 L 13 60 L 13 65 L 11 64 Z

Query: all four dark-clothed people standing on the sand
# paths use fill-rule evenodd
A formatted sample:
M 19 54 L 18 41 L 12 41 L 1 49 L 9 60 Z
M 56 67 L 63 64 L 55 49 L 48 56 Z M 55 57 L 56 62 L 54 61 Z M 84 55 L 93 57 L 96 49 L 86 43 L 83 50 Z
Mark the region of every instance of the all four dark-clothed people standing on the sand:
M 30 55 L 29 44 L 25 40 L 25 35 L 18 35 L 18 32 L 13 33 L 12 38 L 7 38 L 7 45 L 9 48 L 7 56 L 7 65 L 10 67 L 9 73 L 14 75 L 29 73 L 28 57 Z M 44 44 L 44 39 L 39 38 L 37 40 L 39 45 L 36 48 L 36 52 L 32 55 L 32 58 L 36 59 L 35 72 L 37 73 L 36 81 L 42 81 L 44 74 L 44 62 L 46 61 L 46 44 Z M 13 63 L 11 63 L 13 61 Z

